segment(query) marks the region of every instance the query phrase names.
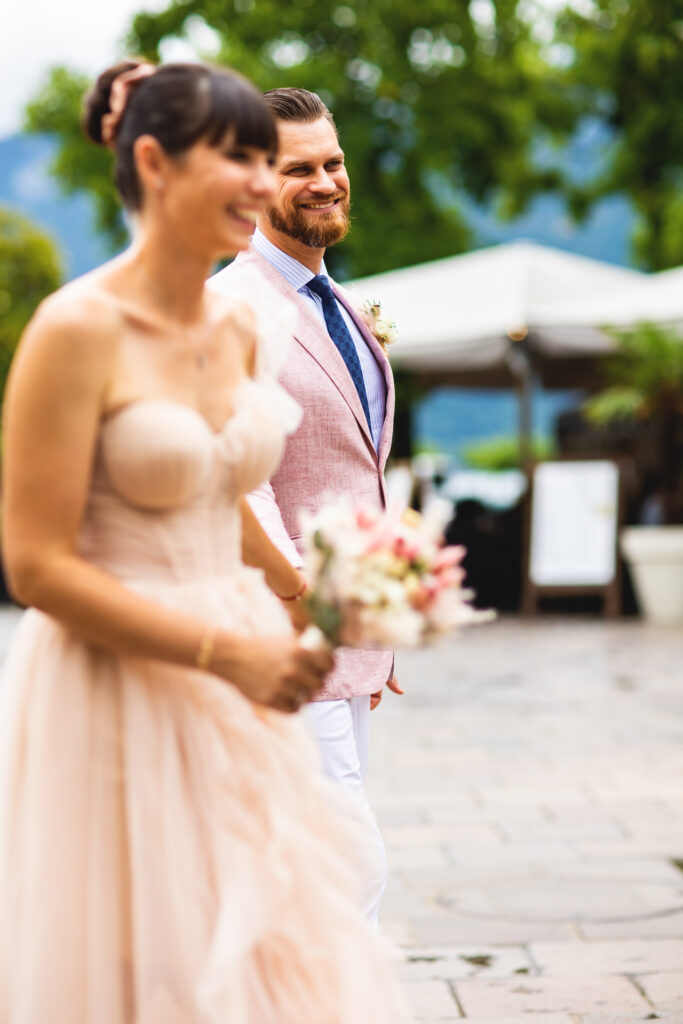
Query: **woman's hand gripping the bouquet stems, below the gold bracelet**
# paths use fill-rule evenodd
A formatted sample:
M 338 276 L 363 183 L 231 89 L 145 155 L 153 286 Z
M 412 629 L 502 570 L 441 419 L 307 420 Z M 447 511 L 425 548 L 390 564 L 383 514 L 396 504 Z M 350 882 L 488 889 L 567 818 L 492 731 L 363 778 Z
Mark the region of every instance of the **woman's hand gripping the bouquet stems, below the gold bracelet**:
M 229 638 L 221 652 L 217 639 L 210 671 L 234 686 L 254 703 L 295 712 L 319 690 L 334 667 L 328 650 L 304 650 L 295 637 Z

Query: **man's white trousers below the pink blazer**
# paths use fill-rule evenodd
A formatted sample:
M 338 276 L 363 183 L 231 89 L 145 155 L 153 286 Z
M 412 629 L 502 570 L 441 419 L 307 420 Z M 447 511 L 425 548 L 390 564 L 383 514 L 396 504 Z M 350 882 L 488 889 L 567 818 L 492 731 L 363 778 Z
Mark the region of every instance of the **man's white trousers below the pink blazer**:
M 306 705 L 305 714 L 321 749 L 325 774 L 346 788 L 368 822 L 371 843 L 364 836 L 362 856 L 359 857 L 360 900 L 369 921 L 377 924 L 387 868 L 384 842 L 364 791 L 370 740 L 370 695 L 313 700 Z

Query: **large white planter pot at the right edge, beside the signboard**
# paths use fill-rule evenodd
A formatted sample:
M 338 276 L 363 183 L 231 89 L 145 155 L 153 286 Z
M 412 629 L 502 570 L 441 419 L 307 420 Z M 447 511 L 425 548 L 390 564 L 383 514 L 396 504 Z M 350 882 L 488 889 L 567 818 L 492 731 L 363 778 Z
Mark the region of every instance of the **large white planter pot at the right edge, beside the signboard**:
M 621 543 L 643 616 L 683 625 L 683 526 L 626 526 Z

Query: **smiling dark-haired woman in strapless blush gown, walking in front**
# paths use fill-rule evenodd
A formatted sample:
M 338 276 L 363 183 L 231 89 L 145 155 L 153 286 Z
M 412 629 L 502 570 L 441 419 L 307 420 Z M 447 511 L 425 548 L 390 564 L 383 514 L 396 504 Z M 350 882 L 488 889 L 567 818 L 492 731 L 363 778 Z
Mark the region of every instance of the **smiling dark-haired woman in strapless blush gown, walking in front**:
M 204 285 L 272 196 L 272 120 L 238 75 L 127 61 L 84 123 L 135 231 L 43 303 L 6 397 L 30 610 L 0 709 L 0 1020 L 398 1024 L 357 826 L 290 714 L 331 658 L 244 499 L 298 411 L 256 316 Z

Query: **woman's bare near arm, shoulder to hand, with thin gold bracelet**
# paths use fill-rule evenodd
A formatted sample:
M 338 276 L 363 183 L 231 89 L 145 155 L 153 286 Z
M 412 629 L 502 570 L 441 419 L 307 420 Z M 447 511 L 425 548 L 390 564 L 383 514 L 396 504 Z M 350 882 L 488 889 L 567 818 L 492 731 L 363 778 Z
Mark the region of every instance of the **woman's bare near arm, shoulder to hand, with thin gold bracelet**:
M 23 604 L 47 612 L 87 642 L 189 667 L 197 664 L 207 624 L 132 594 L 77 553 L 120 331 L 118 313 L 105 302 L 57 294 L 23 339 L 5 399 L 7 578 Z M 219 632 L 207 667 L 252 699 L 291 710 L 293 694 L 312 693 L 331 664 L 302 657 L 308 652 L 299 651 L 292 638 L 272 641 Z

